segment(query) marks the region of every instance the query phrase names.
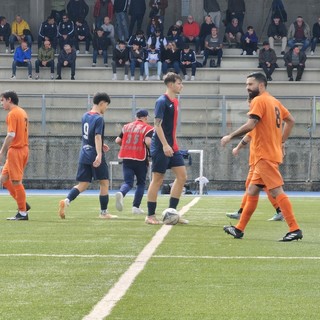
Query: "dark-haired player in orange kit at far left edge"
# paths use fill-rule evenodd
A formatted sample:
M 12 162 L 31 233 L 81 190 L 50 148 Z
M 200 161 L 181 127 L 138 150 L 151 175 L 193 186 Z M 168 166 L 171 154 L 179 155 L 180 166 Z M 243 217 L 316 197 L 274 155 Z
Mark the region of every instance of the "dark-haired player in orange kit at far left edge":
M 18 213 L 7 220 L 28 220 L 30 206 L 26 203 L 26 191 L 22 184 L 24 170 L 29 157 L 28 115 L 18 106 L 19 98 L 14 91 L 1 94 L 6 118 L 7 135 L 0 149 L 0 163 L 6 156 L 2 169 L 1 183 L 18 204 Z

